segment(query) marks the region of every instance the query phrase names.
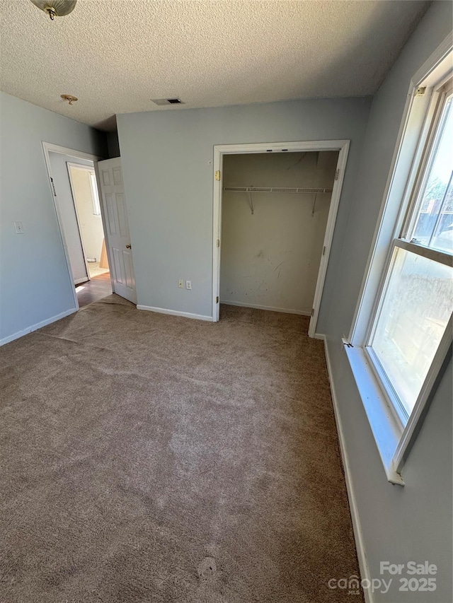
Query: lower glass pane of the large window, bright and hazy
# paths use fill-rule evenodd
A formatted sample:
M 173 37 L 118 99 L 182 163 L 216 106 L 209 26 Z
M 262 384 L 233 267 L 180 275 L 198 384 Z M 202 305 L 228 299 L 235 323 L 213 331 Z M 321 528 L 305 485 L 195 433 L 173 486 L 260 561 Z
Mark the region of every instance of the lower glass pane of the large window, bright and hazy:
M 453 310 L 453 269 L 395 247 L 372 349 L 408 416 Z

